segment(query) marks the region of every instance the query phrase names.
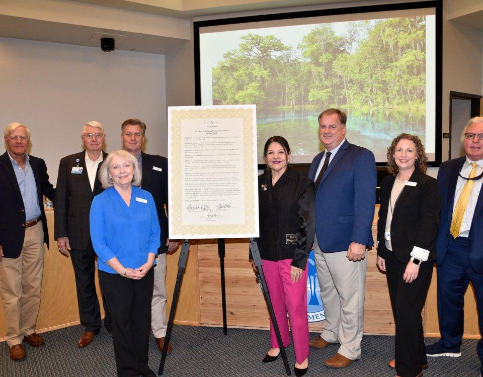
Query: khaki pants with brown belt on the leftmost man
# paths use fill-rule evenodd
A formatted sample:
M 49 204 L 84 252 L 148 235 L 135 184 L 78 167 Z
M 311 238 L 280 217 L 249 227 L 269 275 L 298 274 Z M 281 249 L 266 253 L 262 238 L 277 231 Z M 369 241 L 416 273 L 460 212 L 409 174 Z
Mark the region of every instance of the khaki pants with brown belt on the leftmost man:
M 3 258 L 0 262 L 0 294 L 7 326 L 5 340 L 9 346 L 22 343 L 25 335 L 35 332 L 43 267 L 44 231 L 40 221 L 25 229 L 19 257 Z

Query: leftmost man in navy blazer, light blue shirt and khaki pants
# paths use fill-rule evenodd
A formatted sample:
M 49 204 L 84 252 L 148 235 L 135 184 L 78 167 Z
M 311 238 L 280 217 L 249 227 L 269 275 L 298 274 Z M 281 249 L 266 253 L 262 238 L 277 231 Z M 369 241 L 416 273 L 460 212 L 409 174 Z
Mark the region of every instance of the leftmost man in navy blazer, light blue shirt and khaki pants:
M 4 131 L 8 150 L 0 156 L 0 295 L 10 358 L 25 358 L 22 342 L 44 344 L 35 332 L 44 266 L 49 247 L 42 196 L 54 200 L 45 161 L 30 156 L 30 130 L 11 123 Z

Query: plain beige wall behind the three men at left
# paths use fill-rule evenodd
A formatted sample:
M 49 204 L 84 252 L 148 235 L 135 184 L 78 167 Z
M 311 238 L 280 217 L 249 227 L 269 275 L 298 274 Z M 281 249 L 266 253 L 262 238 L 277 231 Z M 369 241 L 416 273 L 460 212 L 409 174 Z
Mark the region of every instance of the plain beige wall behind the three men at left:
M 30 128 L 31 154 L 54 185 L 59 159 L 82 150 L 86 122 L 104 125 L 110 151 L 127 118 L 146 123 L 147 153 L 167 154 L 164 55 L 0 38 L 0 128 Z

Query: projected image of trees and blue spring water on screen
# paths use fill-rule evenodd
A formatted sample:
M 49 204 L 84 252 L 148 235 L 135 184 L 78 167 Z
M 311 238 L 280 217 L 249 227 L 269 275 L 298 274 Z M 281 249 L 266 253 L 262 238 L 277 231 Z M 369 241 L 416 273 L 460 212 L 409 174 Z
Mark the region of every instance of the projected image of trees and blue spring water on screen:
M 200 46 L 202 105 L 256 104 L 260 155 L 272 135 L 296 156 L 323 150 L 317 116 L 331 107 L 380 161 L 400 132 L 425 143 L 425 16 L 206 33 Z

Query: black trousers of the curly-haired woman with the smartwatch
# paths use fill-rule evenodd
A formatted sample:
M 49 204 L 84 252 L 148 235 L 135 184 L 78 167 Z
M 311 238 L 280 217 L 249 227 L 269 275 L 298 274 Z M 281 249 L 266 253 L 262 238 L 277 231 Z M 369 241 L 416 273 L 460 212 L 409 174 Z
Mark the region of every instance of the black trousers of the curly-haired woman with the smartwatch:
M 422 262 L 416 280 L 406 283 L 403 274 L 407 263 L 400 263 L 392 252 L 386 253 L 386 277 L 396 325 L 394 356 L 400 377 L 415 377 L 428 363 L 424 345 L 423 310 L 428 294 L 433 262 Z

